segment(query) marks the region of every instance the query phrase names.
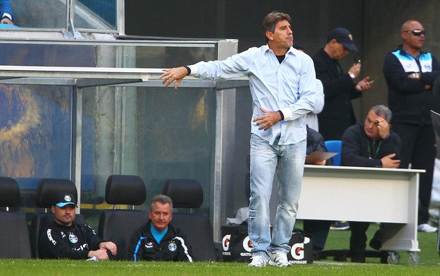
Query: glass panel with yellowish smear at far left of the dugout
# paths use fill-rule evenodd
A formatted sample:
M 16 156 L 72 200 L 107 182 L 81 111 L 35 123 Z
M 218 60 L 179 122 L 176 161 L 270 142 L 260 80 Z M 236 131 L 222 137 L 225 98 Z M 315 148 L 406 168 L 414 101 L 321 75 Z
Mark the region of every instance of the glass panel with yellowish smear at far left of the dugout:
M 72 88 L 0 84 L 0 175 L 35 207 L 40 178 L 70 178 Z

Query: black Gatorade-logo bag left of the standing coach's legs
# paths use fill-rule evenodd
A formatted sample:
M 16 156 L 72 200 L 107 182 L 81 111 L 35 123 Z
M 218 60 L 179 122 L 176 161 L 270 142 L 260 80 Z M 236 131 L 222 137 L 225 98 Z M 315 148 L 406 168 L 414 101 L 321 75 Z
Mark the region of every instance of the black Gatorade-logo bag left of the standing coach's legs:
M 252 243 L 249 241 L 246 222 L 222 225 L 221 236 L 224 262 L 251 263 Z

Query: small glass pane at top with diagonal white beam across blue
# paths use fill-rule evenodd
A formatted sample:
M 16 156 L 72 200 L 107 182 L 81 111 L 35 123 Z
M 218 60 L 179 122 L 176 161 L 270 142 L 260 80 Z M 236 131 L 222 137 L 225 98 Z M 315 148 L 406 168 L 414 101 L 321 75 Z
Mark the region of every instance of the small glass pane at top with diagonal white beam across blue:
M 75 28 L 116 30 L 116 0 L 76 0 Z

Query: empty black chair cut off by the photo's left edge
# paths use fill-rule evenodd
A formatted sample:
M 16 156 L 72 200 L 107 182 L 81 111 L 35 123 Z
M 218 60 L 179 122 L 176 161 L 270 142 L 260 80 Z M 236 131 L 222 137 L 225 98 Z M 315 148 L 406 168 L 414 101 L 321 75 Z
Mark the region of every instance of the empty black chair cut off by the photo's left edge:
M 0 258 L 31 258 L 26 215 L 11 211 L 20 203 L 20 188 L 13 178 L 0 177 Z

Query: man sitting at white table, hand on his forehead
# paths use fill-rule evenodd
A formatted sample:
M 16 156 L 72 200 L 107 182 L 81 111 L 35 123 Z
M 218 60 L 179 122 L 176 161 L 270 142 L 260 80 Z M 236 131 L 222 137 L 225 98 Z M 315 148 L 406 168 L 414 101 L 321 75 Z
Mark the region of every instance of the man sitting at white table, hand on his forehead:
M 341 166 L 399 168 L 400 137 L 390 130 L 391 116 L 385 105 L 376 105 L 368 111 L 365 122 L 348 127 L 342 136 Z M 365 263 L 365 232 L 369 225 L 370 222 L 350 222 L 352 262 Z M 382 234 L 382 230 L 375 233 L 370 241 L 372 248 L 378 250 L 382 246 Z

